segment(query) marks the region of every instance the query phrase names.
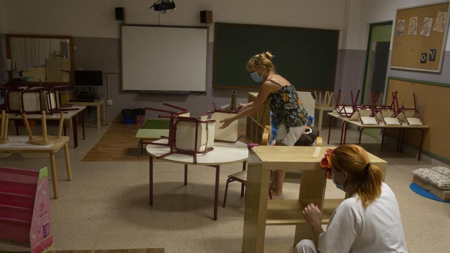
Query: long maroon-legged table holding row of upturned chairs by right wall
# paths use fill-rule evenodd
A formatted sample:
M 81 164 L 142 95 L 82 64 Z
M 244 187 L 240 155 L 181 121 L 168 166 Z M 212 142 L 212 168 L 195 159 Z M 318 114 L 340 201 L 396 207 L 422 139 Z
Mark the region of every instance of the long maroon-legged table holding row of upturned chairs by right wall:
M 383 122 L 380 122 L 379 125 L 363 125 L 359 121 L 349 120 L 347 118 L 339 116 L 339 114 L 335 114 L 335 113 L 331 113 L 331 112 L 328 112 L 327 114 L 331 117 L 330 118 L 330 126 L 329 126 L 329 129 L 328 129 L 328 141 L 327 141 L 327 144 L 330 144 L 331 125 L 332 125 L 332 120 L 333 119 L 338 119 L 338 120 L 342 121 L 342 125 L 341 125 L 341 143 L 340 143 L 341 145 L 345 144 L 345 142 L 346 142 L 347 130 L 348 130 L 348 125 L 349 124 L 361 128 L 359 130 L 358 145 L 361 145 L 361 136 L 363 134 L 363 130 L 366 129 L 366 128 L 383 129 L 383 135 L 381 137 L 381 145 L 383 145 L 383 143 L 385 142 L 385 130 L 386 129 L 398 129 L 399 132 L 398 132 L 398 140 L 397 140 L 397 151 L 400 151 L 400 153 L 403 150 L 404 131 L 406 131 L 406 129 L 420 130 L 421 136 L 420 136 L 419 154 L 417 156 L 417 160 L 420 160 L 420 158 L 422 156 L 423 137 L 425 135 L 425 129 L 429 129 L 430 128 L 429 126 L 426 126 L 426 125 L 416 126 L 416 125 L 407 125 L 406 123 L 403 123 L 402 125 L 385 125 Z

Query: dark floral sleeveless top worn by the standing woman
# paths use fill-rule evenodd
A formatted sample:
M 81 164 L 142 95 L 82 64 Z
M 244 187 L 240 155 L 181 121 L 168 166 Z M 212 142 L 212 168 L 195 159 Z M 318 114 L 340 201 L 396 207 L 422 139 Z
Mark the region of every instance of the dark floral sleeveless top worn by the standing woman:
M 274 83 L 280 85 L 277 82 Z M 266 102 L 270 105 L 278 125 L 283 124 L 287 131 L 290 127 L 306 125 L 308 112 L 303 107 L 293 85 L 283 86 L 277 92 L 271 93 Z

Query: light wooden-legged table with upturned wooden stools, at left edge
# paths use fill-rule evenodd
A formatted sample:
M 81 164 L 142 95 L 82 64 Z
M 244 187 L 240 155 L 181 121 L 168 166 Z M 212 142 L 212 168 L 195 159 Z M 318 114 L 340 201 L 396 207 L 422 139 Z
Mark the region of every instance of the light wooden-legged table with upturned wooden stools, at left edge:
M 39 136 L 34 136 L 39 137 Z M 69 136 L 47 136 L 53 145 L 38 146 L 28 144 L 28 136 L 8 136 L 9 143 L 0 145 L 0 153 L 48 153 L 50 155 L 50 166 L 52 170 L 53 195 L 58 198 L 58 177 L 56 175 L 55 153 L 64 147 L 65 166 L 67 169 L 67 180 L 72 180 L 72 169 L 69 156 Z M 49 147 L 50 146 L 50 147 Z

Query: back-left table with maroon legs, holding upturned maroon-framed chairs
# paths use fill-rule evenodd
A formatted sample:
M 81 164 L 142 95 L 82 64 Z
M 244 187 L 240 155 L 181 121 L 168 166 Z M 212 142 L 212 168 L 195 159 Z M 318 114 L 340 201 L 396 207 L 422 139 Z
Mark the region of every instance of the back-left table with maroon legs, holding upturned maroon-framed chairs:
M 72 120 L 72 128 L 73 128 L 73 135 L 74 135 L 74 148 L 78 147 L 78 130 L 77 130 L 77 117 L 76 115 L 78 113 L 81 113 L 81 126 L 83 129 L 83 140 L 84 140 L 84 109 L 86 109 L 86 106 L 72 106 L 70 108 L 75 108 L 77 110 L 73 111 L 66 111 L 66 113 L 63 113 L 64 120 Z M 16 134 L 19 135 L 19 128 L 17 125 L 17 121 L 22 120 L 21 114 L 16 113 L 8 113 L 9 114 L 9 120 L 13 120 L 14 124 L 16 126 Z M 28 120 L 38 120 L 40 121 L 41 114 L 27 114 Z M 1 118 L 1 117 L 0 117 Z M 53 114 L 46 114 L 47 120 L 56 120 L 59 121 L 59 112 L 53 113 Z M 66 126 L 64 124 L 64 135 L 66 135 Z

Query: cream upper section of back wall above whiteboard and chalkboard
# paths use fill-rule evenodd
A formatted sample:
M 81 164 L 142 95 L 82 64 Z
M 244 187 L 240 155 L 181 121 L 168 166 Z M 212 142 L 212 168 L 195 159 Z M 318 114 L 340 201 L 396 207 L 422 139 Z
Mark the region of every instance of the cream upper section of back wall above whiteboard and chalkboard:
M 212 10 L 215 22 L 342 30 L 345 0 L 175 0 L 176 10 L 161 15 L 149 0 L 4 2 L 7 33 L 119 38 L 115 7 L 125 8 L 128 24 L 199 26 L 199 11 Z

